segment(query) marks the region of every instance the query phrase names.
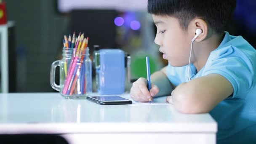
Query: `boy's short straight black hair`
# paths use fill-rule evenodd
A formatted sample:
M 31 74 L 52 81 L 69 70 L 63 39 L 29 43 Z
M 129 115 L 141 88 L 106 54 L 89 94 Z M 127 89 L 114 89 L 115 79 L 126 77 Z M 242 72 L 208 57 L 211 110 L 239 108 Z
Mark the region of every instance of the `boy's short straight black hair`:
M 147 11 L 178 19 L 183 30 L 187 30 L 192 19 L 199 17 L 221 33 L 232 18 L 235 6 L 236 0 L 148 0 Z

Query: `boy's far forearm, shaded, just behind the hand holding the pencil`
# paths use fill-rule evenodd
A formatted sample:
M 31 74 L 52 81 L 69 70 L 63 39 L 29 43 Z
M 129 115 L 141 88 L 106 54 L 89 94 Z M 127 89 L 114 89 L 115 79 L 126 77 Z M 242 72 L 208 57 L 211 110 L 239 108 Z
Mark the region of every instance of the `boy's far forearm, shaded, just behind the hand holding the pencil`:
M 151 75 L 151 83 L 157 85 L 159 92 L 154 96 L 168 96 L 173 91 L 173 85 L 168 80 L 166 75 L 166 67 L 163 67 L 160 71 L 157 71 Z

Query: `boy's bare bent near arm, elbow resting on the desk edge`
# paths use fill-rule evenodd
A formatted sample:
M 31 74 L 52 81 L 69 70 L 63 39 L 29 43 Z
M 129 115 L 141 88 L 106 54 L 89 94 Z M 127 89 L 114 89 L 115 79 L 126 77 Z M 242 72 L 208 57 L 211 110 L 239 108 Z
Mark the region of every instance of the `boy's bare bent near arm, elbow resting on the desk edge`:
M 167 100 L 182 113 L 206 113 L 232 93 L 233 87 L 225 77 L 210 74 L 181 83 Z

